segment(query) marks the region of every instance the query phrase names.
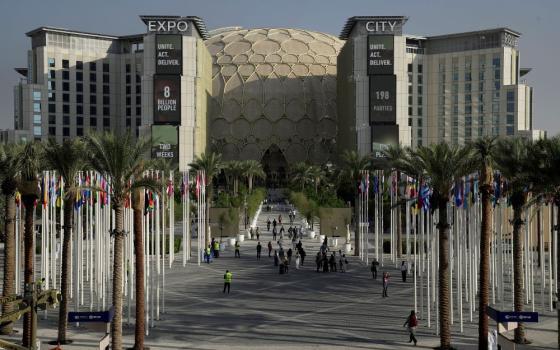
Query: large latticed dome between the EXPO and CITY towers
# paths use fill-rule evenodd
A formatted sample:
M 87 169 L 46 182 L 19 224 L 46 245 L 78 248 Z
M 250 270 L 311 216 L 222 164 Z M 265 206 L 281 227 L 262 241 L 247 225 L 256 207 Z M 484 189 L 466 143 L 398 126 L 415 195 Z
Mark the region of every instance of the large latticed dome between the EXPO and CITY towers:
M 222 28 L 212 55 L 210 146 L 225 160 L 279 150 L 288 164 L 332 158 L 336 61 L 344 41 L 299 29 Z

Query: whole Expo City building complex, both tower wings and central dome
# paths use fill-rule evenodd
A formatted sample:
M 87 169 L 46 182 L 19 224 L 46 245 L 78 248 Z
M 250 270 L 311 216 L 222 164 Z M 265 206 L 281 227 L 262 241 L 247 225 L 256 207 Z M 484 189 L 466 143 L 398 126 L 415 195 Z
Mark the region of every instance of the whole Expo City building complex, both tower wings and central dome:
M 345 150 L 464 144 L 532 130 L 520 34 L 496 28 L 405 34 L 404 16 L 349 18 L 339 38 L 289 28 L 222 28 L 141 16 L 142 34 L 37 28 L 14 89 L 14 132 L 58 141 L 91 131 L 152 139 L 186 169 L 202 152 L 257 159 L 284 176 Z

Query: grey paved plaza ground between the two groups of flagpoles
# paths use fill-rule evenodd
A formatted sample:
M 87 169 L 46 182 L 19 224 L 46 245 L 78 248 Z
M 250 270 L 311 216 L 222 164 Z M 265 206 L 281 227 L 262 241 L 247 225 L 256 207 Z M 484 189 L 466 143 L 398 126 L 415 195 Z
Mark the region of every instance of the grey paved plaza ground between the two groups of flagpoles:
M 280 275 L 268 257 L 266 245 L 271 233 L 266 220 L 279 212 L 263 212 L 258 220 L 263 254 L 256 259 L 255 240 L 245 240 L 241 258 L 232 248 L 210 264 L 197 266 L 195 259 L 182 267 L 177 259 L 166 274 L 165 313 L 150 328 L 146 344 L 152 349 L 409 349 L 403 323 L 413 306 L 413 281 L 400 280 L 395 266 L 381 271 L 391 275 L 389 298 L 381 296 L 381 281 L 374 281 L 369 269 L 356 257 L 349 257 L 345 273 L 317 273 L 315 254 L 320 241 L 304 238 L 305 265 L 292 265 Z M 284 222 L 287 213 L 282 212 Z M 299 221 L 299 218 L 298 218 Z M 289 224 L 285 224 L 287 229 Z M 284 247 L 291 246 L 285 237 Z M 196 240 L 194 240 L 196 242 Z M 343 242 L 339 242 L 342 246 Z M 277 244 L 274 244 L 277 247 Z M 287 249 L 287 248 L 286 248 Z M 223 294 L 223 275 L 233 272 L 231 294 Z M 71 304 L 72 305 L 72 304 Z M 84 310 L 85 311 L 85 310 Z M 56 311 L 47 320 L 41 313 L 38 336 L 43 342 L 56 338 Z M 126 303 L 125 317 L 126 322 Z M 21 323 L 18 323 L 18 328 Z M 438 344 L 434 324 L 427 329 L 420 320 L 418 347 Z M 124 325 L 125 344 L 133 343 L 134 323 Z M 551 349 L 556 342 L 556 321 L 541 316 L 538 331 L 530 328 L 534 344 L 522 349 Z M 21 329 L 21 328 L 20 328 Z M 458 335 L 454 325 L 453 343 L 459 349 L 476 348 L 476 325 L 465 323 Z M 72 345 L 64 349 L 94 348 L 102 332 L 70 326 Z M 52 348 L 44 344 L 43 349 Z

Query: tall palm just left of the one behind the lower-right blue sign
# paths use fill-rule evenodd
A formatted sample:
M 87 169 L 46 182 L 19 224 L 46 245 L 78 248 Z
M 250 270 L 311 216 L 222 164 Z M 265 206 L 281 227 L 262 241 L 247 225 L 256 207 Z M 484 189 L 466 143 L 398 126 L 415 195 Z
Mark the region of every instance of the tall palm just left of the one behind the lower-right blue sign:
M 482 218 L 480 227 L 480 285 L 478 299 L 478 348 L 488 349 L 488 302 L 490 298 L 490 240 L 492 238 L 492 167 L 496 139 L 483 137 L 472 144 L 473 161 L 480 174 Z M 501 233 L 500 233 L 501 235 Z M 500 238 L 501 239 L 501 238 Z

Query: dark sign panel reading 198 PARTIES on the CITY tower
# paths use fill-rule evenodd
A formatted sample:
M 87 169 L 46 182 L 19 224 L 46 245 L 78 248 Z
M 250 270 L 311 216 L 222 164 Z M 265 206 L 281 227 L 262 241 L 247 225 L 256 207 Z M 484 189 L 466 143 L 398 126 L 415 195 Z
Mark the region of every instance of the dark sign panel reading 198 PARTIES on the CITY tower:
M 369 122 L 397 122 L 397 77 L 375 75 L 369 77 Z

